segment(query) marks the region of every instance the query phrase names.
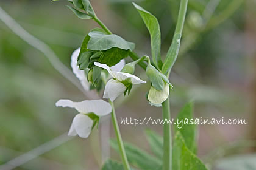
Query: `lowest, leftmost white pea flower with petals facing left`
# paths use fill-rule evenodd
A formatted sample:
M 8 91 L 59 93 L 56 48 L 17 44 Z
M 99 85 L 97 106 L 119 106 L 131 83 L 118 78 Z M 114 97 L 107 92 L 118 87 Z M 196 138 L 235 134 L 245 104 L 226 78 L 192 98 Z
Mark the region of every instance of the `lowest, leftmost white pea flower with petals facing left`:
M 79 135 L 81 138 L 87 138 L 92 128 L 99 121 L 99 117 L 112 112 L 111 105 L 104 100 L 84 100 L 74 102 L 71 100 L 61 99 L 56 103 L 57 107 L 71 107 L 76 109 L 77 114 L 69 129 L 69 136 Z

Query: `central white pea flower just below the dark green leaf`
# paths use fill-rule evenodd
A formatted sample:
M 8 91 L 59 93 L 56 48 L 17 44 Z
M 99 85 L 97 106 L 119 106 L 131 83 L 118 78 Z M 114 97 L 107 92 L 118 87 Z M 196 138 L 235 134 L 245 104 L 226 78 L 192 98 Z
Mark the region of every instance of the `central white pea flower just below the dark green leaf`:
M 106 69 L 107 72 L 113 77 L 112 79 L 108 80 L 103 95 L 103 98 L 109 98 L 111 101 L 114 101 L 127 89 L 130 90 L 132 84 L 146 83 L 146 81 L 140 80 L 140 78 L 136 77 L 135 75 L 116 72 L 110 69 L 107 64 L 94 62 L 94 65 Z

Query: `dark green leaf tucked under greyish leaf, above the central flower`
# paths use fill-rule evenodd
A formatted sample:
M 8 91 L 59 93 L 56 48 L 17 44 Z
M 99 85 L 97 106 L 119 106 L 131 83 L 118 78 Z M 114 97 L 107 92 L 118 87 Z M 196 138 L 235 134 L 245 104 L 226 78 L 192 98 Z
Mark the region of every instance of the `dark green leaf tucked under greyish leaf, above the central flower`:
M 115 66 L 120 60 L 128 56 L 128 50 L 112 49 L 105 50 L 99 58 L 99 63 L 107 64 L 108 66 Z

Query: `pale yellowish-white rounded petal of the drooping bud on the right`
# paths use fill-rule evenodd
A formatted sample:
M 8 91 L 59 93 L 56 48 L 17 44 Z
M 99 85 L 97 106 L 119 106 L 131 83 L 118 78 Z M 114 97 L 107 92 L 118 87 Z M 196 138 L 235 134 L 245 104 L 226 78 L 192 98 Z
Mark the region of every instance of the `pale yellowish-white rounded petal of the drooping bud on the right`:
M 155 89 L 151 86 L 148 94 L 148 100 L 154 104 L 163 103 L 169 96 L 169 84 L 165 83 L 165 87 L 163 87 L 163 91 Z

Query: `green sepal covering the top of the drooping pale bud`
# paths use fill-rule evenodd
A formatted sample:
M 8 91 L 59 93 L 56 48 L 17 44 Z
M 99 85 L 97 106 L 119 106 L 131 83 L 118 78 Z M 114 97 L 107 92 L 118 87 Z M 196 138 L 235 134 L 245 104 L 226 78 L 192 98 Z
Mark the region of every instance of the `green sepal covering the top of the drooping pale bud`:
M 149 80 L 152 83 L 152 86 L 155 87 L 155 89 L 160 91 L 163 90 L 163 78 L 160 77 L 160 72 L 158 72 L 158 70 L 155 69 L 154 66 L 150 64 L 147 66 L 146 75 L 148 76 Z

